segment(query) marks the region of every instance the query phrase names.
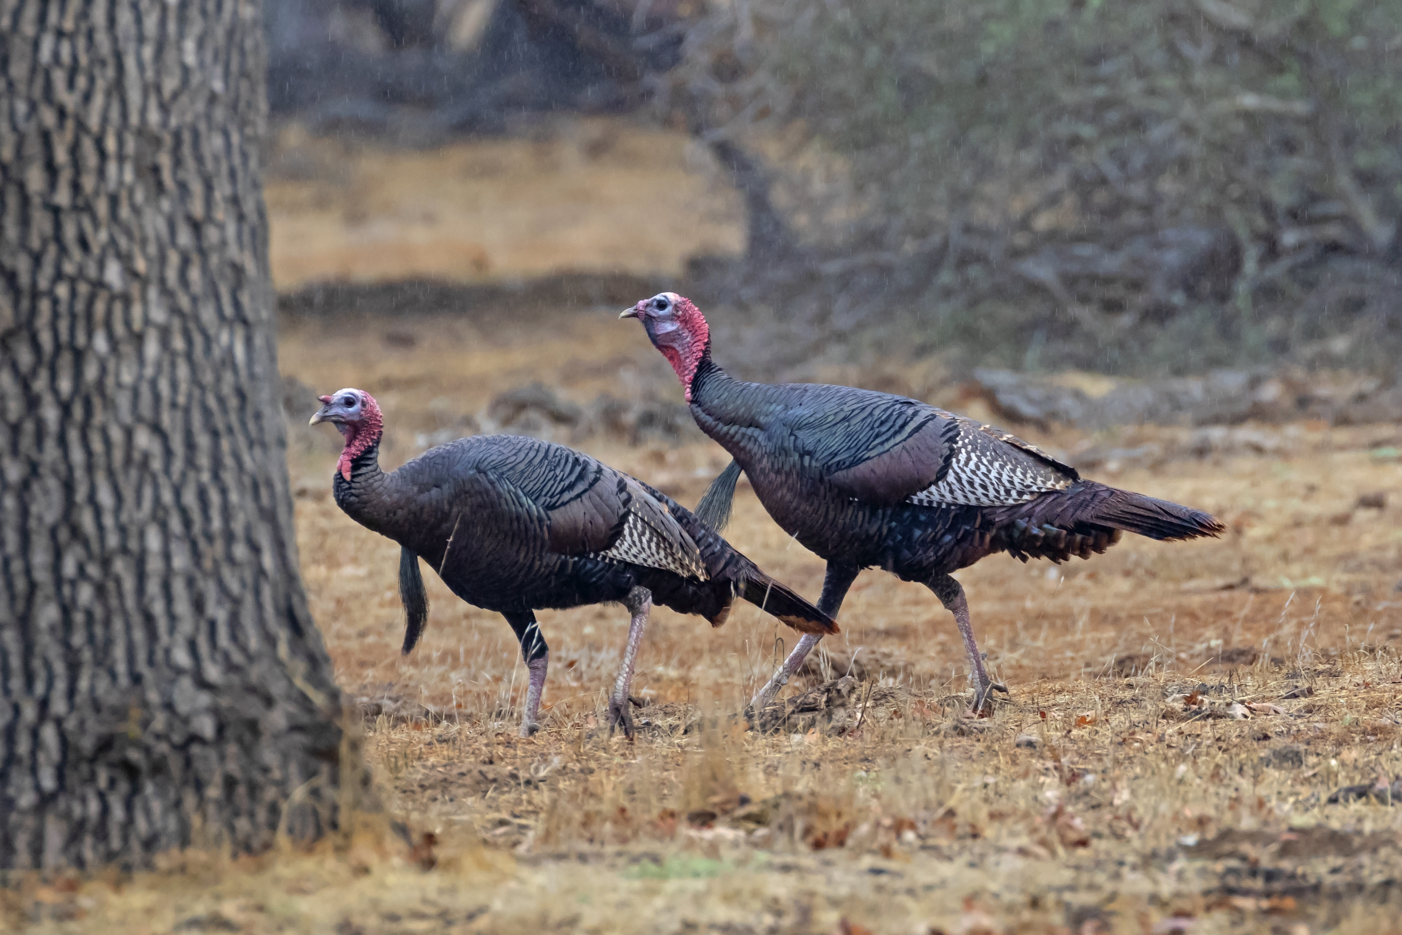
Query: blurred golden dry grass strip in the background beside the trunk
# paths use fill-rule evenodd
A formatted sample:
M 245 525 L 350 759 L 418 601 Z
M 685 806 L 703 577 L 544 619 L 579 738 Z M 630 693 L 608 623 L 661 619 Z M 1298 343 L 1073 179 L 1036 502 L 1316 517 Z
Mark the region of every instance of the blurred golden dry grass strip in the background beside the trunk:
M 279 289 L 324 279 L 677 273 L 744 247 L 739 196 L 683 133 L 561 116 L 533 139 L 404 153 L 285 128 L 266 186 Z

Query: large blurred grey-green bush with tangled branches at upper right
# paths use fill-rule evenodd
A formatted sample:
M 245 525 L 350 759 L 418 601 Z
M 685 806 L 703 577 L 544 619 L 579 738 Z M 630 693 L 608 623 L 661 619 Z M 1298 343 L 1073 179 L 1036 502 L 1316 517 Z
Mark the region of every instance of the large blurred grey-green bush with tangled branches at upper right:
M 768 157 L 763 205 L 834 306 L 1033 286 L 1070 331 L 1214 310 L 1265 334 L 1253 297 L 1398 265 L 1399 22 L 1402 0 L 715 0 L 649 81 Z

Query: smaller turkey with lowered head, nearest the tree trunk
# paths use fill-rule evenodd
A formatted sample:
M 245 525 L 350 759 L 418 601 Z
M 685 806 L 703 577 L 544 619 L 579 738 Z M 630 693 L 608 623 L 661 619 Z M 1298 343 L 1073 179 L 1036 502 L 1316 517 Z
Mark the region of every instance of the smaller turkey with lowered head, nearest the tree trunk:
M 404 652 L 428 618 L 422 558 L 470 604 L 499 611 L 516 631 L 530 670 L 522 736 L 538 728 L 550 648 L 537 610 L 618 601 L 632 615 L 622 667 L 608 701 L 610 732 L 632 736 L 628 690 L 653 603 L 725 622 L 735 597 L 802 632 L 837 624 L 670 498 L 572 449 L 488 435 L 425 451 L 380 470 L 380 407 L 363 390 L 320 397 L 311 425 L 332 422 L 345 449 L 332 477 L 336 505 L 400 544 L 400 594 L 408 614 Z

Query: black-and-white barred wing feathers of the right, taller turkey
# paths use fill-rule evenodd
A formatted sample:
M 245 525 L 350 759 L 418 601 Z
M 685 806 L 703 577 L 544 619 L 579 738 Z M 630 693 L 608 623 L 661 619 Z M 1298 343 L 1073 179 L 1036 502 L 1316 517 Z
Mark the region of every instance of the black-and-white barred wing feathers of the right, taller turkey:
M 949 471 L 907 498 L 920 506 L 1014 506 L 1078 478 L 1036 447 L 986 425 L 959 418 Z

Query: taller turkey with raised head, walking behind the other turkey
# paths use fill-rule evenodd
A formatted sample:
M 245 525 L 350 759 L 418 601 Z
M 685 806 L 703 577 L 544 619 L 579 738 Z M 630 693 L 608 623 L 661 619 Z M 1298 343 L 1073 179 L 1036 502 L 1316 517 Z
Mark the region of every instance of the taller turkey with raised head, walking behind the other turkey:
M 817 384 L 732 378 L 711 360 L 711 331 L 691 300 L 665 292 L 620 315 L 641 318 L 677 371 L 701 430 L 735 458 L 697 514 L 723 528 L 740 471 L 774 521 L 827 561 L 817 603 L 837 617 L 864 568 L 928 586 L 955 615 L 974 708 L 994 685 L 949 572 L 984 555 L 1089 558 L 1123 531 L 1157 540 L 1217 535 L 1207 513 L 1084 481 L 1005 432 L 917 400 Z M 817 645 L 805 634 L 754 698 L 763 709 Z

